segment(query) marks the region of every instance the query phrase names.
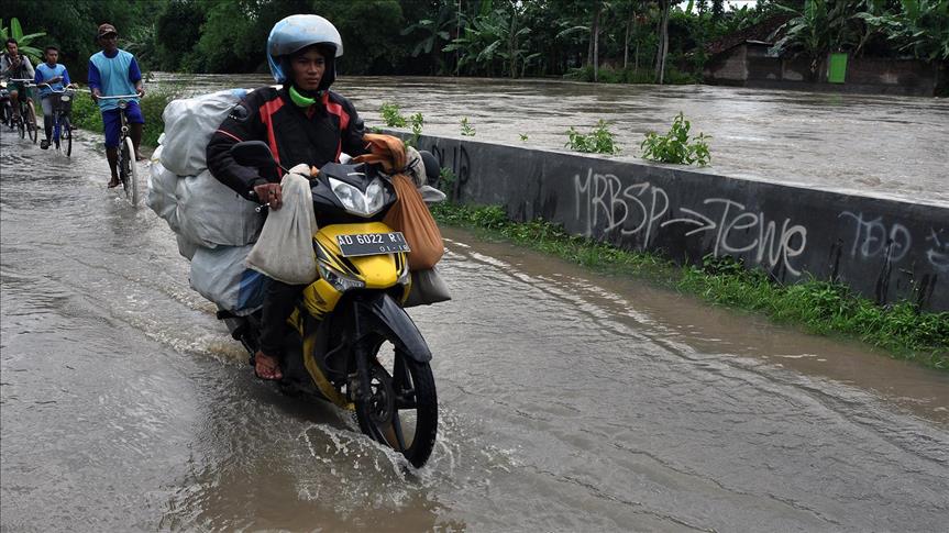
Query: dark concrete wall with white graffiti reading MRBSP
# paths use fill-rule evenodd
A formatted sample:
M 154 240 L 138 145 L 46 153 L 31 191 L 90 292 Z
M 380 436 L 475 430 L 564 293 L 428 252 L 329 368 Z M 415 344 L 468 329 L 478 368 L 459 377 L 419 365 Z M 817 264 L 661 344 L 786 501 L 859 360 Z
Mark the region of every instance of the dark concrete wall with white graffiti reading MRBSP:
M 683 263 L 743 258 L 782 282 L 836 279 L 886 303 L 949 310 L 949 208 L 717 176 L 685 167 L 422 136 L 463 203 L 501 204 Z M 449 192 L 449 191 L 445 191 Z

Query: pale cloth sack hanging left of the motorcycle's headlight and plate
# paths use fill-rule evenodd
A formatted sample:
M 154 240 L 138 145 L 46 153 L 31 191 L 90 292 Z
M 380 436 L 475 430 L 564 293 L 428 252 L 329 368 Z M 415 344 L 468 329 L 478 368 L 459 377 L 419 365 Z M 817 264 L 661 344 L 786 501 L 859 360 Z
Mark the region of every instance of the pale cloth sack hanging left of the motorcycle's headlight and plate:
M 284 176 L 284 204 L 267 213 L 261 237 L 247 256 L 249 267 L 289 285 L 309 285 L 317 279 L 313 193 L 310 181 L 301 176 L 309 173 L 307 165 L 297 165 Z

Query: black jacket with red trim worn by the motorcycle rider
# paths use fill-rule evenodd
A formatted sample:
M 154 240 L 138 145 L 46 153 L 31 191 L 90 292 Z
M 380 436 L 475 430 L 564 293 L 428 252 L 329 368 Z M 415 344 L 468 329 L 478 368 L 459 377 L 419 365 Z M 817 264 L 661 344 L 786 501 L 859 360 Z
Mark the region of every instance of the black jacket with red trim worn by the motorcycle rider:
M 239 165 L 230 148 L 241 141 L 263 141 L 277 163 L 291 168 L 300 163 L 321 167 L 338 162 L 341 152 L 352 156 L 367 152 L 363 120 L 349 100 L 325 91 L 321 101 L 299 108 L 287 89 L 256 89 L 231 111 L 208 143 L 211 174 L 247 200 L 253 188 L 278 182 L 283 171 L 257 170 Z

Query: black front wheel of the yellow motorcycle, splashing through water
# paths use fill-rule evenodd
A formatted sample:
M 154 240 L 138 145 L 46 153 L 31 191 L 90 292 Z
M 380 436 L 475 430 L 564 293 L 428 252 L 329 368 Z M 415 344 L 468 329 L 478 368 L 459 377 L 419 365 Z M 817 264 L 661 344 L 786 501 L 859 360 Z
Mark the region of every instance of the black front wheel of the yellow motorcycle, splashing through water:
M 372 364 L 371 395 L 356 401 L 360 430 L 402 454 L 416 468 L 426 464 L 438 432 L 438 397 L 431 366 L 384 343 Z

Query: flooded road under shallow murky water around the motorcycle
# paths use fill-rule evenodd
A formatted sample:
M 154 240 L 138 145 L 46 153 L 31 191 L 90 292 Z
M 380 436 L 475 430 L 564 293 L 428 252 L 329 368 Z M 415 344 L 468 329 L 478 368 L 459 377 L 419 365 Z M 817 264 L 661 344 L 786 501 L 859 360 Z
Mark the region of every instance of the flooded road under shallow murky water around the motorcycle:
M 3 531 L 945 531 L 946 373 L 456 231 L 408 470 L 252 377 L 99 136 L 0 141 Z

